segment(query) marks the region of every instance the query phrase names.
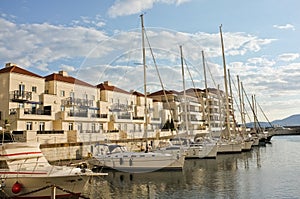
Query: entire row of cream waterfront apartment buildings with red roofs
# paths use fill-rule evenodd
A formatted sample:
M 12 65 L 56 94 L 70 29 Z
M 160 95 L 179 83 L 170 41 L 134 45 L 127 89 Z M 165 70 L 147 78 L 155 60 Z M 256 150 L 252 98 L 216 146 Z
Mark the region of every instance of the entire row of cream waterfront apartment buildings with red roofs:
M 42 144 L 158 138 L 173 130 L 163 128 L 167 123 L 190 134 L 207 126 L 220 131 L 226 116 L 225 96 L 217 89 L 208 89 L 208 96 L 201 89 L 188 89 L 185 96 L 160 90 L 147 94 L 145 104 L 144 94 L 108 81 L 94 86 L 65 71 L 41 77 L 11 63 L 0 70 L 0 91 L 0 125 L 20 141 Z

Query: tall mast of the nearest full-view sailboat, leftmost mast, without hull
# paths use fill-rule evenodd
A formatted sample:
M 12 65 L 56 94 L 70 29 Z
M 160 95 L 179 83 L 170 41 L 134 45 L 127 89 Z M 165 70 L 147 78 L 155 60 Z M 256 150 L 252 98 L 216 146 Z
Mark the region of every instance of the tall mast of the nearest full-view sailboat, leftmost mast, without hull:
M 147 80 L 146 80 L 146 49 L 145 49 L 145 27 L 144 27 L 144 15 L 141 14 L 141 25 L 142 25 L 142 53 L 143 53 L 143 68 L 144 68 L 144 134 L 146 136 L 146 151 L 148 151 L 148 110 L 147 110 Z

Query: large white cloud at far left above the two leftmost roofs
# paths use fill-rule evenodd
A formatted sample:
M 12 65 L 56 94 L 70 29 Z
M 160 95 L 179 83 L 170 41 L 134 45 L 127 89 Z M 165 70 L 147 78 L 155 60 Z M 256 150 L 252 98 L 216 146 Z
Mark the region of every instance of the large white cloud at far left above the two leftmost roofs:
M 62 59 L 84 57 L 106 33 L 82 26 L 15 24 L 0 18 L 0 60 L 47 71 L 48 64 Z

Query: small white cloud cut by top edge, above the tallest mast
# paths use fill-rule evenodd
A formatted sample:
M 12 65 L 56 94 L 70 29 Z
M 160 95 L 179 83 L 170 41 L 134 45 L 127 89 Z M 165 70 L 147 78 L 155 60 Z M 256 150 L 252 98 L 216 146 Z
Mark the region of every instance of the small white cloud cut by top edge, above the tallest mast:
M 180 5 L 190 0 L 116 0 L 109 8 L 110 17 L 138 14 L 144 10 L 151 9 L 156 3 Z

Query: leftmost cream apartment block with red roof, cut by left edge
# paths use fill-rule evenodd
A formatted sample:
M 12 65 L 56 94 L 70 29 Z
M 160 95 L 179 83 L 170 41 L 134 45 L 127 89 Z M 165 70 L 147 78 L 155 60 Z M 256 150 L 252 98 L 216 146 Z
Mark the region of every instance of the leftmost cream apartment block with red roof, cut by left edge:
M 45 79 L 7 63 L 0 70 L 0 125 L 21 141 L 46 139 L 55 118 L 53 104 L 44 102 Z M 61 132 L 57 139 L 64 141 Z

